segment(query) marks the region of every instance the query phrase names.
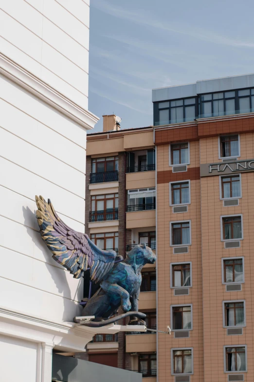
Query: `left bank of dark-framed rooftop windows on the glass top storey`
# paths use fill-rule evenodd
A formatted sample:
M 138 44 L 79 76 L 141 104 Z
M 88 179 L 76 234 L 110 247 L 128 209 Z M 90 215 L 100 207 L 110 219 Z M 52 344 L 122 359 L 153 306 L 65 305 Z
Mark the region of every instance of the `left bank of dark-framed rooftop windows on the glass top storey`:
M 158 105 L 158 117 L 154 122 L 155 125 L 194 121 L 198 114 L 196 113 L 197 98 L 156 102 L 155 105 Z

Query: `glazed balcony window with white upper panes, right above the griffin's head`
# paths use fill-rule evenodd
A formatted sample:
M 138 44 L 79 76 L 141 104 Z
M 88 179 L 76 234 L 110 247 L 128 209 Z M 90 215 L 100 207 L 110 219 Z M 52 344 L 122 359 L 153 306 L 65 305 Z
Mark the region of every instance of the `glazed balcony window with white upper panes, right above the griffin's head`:
M 144 211 L 155 209 L 155 187 L 128 190 L 127 211 Z

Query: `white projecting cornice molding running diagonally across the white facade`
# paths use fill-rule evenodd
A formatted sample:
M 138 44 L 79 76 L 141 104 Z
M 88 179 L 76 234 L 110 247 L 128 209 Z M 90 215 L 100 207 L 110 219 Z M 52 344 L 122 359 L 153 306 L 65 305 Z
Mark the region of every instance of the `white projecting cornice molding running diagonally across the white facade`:
M 91 130 L 99 121 L 99 118 L 90 111 L 83 109 L 1 52 L 0 74 L 16 82 L 87 130 Z

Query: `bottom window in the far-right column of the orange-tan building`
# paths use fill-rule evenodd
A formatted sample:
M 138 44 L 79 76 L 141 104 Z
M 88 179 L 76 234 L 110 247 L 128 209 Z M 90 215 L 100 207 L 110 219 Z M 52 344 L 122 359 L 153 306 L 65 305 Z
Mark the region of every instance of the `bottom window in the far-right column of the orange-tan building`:
M 236 346 L 224 346 L 225 371 L 247 371 L 246 345 Z

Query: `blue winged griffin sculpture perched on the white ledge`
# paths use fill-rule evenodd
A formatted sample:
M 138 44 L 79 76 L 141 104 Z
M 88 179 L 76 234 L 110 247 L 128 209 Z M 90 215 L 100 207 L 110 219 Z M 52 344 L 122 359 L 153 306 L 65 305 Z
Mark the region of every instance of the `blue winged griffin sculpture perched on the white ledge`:
M 138 312 L 138 296 L 142 281 L 141 269 L 153 264 L 156 256 L 145 244 L 136 245 L 126 255 L 117 256 L 113 250 L 98 248 L 88 235 L 68 227 L 55 213 L 50 200 L 36 196 L 36 218 L 41 238 L 62 264 L 79 279 L 83 271 L 90 269 L 91 281 L 99 282 L 100 288 L 83 308 L 82 316 L 95 316 L 89 326 L 102 326 L 131 316 L 130 323 L 143 323 L 144 313 Z M 115 262 L 117 261 L 117 262 Z M 119 307 L 124 314 L 113 317 Z

